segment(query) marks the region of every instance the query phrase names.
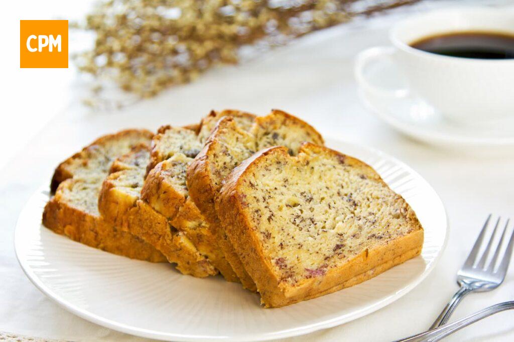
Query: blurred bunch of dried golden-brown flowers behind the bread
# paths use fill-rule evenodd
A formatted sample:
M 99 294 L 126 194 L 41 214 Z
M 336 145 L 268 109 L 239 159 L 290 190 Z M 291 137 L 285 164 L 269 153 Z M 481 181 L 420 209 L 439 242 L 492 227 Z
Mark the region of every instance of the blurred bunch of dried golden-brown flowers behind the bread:
M 283 45 L 357 14 L 415 1 L 372 2 L 355 12 L 351 0 L 110 0 L 87 16 L 96 41 L 77 63 L 150 97 L 215 64 L 237 63 L 244 46 Z

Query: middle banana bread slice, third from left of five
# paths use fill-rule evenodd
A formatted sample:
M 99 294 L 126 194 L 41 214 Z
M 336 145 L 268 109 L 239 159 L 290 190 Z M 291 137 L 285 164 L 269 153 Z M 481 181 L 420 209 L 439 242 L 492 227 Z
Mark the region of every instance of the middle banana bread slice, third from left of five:
M 227 115 L 245 128 L 250 127 L 255 118 L 253 114 L 235 110 L 212 111 L 201 120 L 197 130 L 161 127 L 152 141 L 151 160 L 148 166 L 150 172 L 145 179 L 141 198 L 158 213 L 166 216 L 172 226 L 184 232 L 226 280 L 239 281 L 219 248 L 205 217 L 189 198 L 186 186 L 187 166 L 203 147 L 204 139 L 209 136 L 217 120 Z M 144 238 L 144 235 L 140 236 Z

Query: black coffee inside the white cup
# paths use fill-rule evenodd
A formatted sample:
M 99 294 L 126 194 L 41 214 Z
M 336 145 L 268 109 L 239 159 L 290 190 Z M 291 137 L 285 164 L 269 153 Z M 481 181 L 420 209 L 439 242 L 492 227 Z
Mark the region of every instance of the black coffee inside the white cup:
M 481 58 L 514 58 L 514 35 L 496 32 L 455 32 L 434 35 L 411 43 L 413 48 L 439 55 Z

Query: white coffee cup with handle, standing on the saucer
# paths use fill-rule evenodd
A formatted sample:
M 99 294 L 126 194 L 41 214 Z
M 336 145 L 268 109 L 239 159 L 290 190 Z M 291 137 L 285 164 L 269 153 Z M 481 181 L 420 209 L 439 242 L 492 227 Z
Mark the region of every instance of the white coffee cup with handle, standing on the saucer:
M 358 54 L 357 82 L 375 96 L 419 96 L 443 116 L 458 122 L 514 116 L 514 59 L 451 57 L 409 46 L 421 38 L 467 31 L 514 35 L 514 11 L 454 8 L 409 17 L 391 29 L 392 46 L 374 47 Z M 366 67 L 384 58 L 392 58 L 397 64 L 407 88 L 384 88 L 366 77 Z

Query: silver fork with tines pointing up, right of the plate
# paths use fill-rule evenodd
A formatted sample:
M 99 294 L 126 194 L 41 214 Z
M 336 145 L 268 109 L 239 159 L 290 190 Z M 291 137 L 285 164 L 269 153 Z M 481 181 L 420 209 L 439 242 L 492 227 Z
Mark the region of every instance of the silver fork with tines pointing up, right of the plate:
M 505 231 L 509 225 L 509 219 L 507 218 L 500 242 L 494 251 L 491 261 L 486 266 L 487 257 L 491 251 L 494 235 L 498 230 L 501 219 L 501 217 L 498 217 L 498 220 L 494 225 L 491 237 L 489 238 L 489 242 L 487 242 L 487 246 L 485 247 L 482 255 L 479 255 L 481 247 L 485 244 L 484 236 L 486 234 L 487 227 L 489 226 L 491 216 L 492 215 L 489 214 L 487 217 L 484 227 L 482 228 L 479 237 L 475 241 L 473 249 L 469 253 L 468 258 L 464 262 L 462 268 L 457 272 L 457 284 L 461 288 L 458 289 L 458 291 L 453 295 L 453 297 L 450 299 L 443 311 L 439 314 L 429 330 L 446 324 L 451 314 L 466 294 L 473 291 L 491 291 L 502 284 L 503 279 L 505 278 L 505 273 L 507 272 L 507 268 L 509 266 L 510 254 L 512 253 L 512 237 L 514 236 L 514 232 L 510 236 L 509 246 L 503 255 L 500 265 L 495 268 L 494 266 L 497 265 L 500 257 L 500 250 L 503 244 L 503 239 L 505 237 Z

